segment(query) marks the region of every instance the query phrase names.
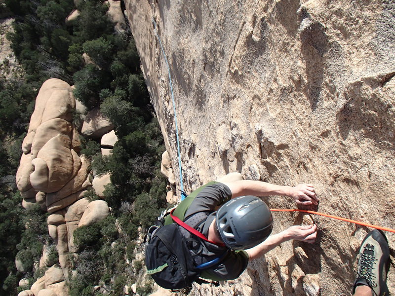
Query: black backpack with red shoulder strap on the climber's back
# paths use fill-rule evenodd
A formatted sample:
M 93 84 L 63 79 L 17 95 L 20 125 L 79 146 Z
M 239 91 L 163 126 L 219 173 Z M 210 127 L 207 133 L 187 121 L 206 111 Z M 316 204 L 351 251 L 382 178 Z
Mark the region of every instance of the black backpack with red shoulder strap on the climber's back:
M 171 290 L 191 287 L 193 282 L 209 283 L 199 278 L 200 272 L 219 264 L 229 250 L 220 256 L 214 256 L 214 259 L 199 256 L 198 249 L 199 246 L 201 248 L 202 240 L 209 240 L 173 216 L 172 212 L 170 215 L 176 223 L 163 226 L 157 222 L 157 225 L 151 226 L 148 231 L 145 250 L 147 274 L 151 275 L 159 286 Z M 217 282 L 213 284 L 218 286 Z

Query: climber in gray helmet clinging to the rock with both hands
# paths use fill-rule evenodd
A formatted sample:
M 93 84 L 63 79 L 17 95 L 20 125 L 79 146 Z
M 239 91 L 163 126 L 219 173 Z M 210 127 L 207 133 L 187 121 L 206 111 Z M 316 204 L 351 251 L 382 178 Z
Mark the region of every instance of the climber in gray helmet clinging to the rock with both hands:
M 195 229 L 209 240 L 225 244 L 218 246 L 202 241 L 199 250 L 201 256 L 212 257 L 224 254 L 227 249 L 231 250 L 219 264 L 202 270 L 201 278 L 214 281 L 235 279 L 247 267 L 249 260 L 264 255 L 282 242 L 290 239 L 308 243 L 315 241 L 315 224 L 293 225 L 269 236 L 272 232 L 272 215 L 266 203 L 256 197 L 268 195 L 289 196 L 300 205 L 318 204 L 313 185 L 273 185 L 243 180 L 241 174 L 232 173 L 199 187 L 177 206 L 174 216 L 189 225 L 195 225 L 198 221 Z M 165 224 L 171 222 L 171 218 L 167 217 Z

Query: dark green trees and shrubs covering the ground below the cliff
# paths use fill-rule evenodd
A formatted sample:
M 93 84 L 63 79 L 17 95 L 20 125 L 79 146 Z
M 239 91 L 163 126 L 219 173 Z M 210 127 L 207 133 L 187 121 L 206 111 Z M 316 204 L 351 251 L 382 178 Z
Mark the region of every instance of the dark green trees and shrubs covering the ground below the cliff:
M 126 259 L 132 260 L 135 247 L 141 248 L 135 243 L 138 227 L 144 229 L 156 219 L 165 206 L 166 194 L 165 179 L 158 171 L 163 139 L 134 39 L 130 34 L 114 34 L 102 1 L 79 1 L 80 15 L 68 27 L 64 20 L 75 8 L 73 1 L 5 2 L 17 17 L 14 32 L 8 37 L 26 74 L 0 81 L 0 145 L 5 148 L 0 151 L 0 177 L 16 172 L 21 141 L 44 80 L 61 78 L 75 85 L 75 96 L 88 109 L 100 106 L 115 124 L 118 142 L 112 155 L 103 157 L 99 143 L 83 139 L 81 153 L 93 160 L 91 166 L 97 173 L 111 172 L 112 184 L 106 187 L 105 200 L 112 207 L 112 215 L 75 231 L 79 258 L 74 262 L 77 275 L 70 279 L 70 295 L 99 295 L 93 291 L 99 279 L 110 285 L 112 295 L 119 295 L 134 277 L 127 272 L 132 266 Z M 84 52 L 94 65 L 85 64 Z M 43 243 L 51 244 L 46 214 L 38 208 L 23 211 L 19 193 L 14 194 L 15 185 L 9 187 L 0 192 L 0 233 L 7 238 L 0 246 L 1 295 L 16 293 L 21 274 L 15 269 L 15 256 L 32 270 Z M 88 198 L 98 197 L 92 191 Z M 56 256 L 53 249 L 50 257 L 56 261 Z M 134 267 L 140 269 L 142 265 Z M 144 294 L 151 287 L 139 289 Z

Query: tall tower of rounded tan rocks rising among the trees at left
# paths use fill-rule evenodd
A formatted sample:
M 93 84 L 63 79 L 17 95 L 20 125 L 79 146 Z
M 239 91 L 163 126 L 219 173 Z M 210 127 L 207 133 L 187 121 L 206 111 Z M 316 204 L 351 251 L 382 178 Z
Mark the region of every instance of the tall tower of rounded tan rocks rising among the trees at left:
M 77 252 L 74 231 L 109 215 L 105 201 L 89 202 L 85 197 L 87 189 L 92 187 L 92 177 L 88 159 L 79 155 L 79 134 L 72 122 L 75 106 L 69 84 L 59 79 L 45 81 L 22 144 L 24 153 L 16 174 L 22 205 L 29 208 L 39 203 L 50 213 L 48 232 L 59 254 L 56 262 L 49 261 L 44 245 L 39 267 L 49 268 L 30 290 L 21 292 L 22 295 L 30 295 L 29 291 L 35 296 L 68 295 L 69 256 Z M 16 260 L 15 263 L 19 271 L 26 272 L 22 262 Z

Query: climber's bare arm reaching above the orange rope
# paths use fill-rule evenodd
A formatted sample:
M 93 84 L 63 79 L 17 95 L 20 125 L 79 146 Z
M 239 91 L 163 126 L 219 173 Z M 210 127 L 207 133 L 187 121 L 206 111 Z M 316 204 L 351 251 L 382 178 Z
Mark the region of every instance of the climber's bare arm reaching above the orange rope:
M 243 195 L 285 195 L 292 197 L 297 204 L 318 204 L 318 198 L 316 196 L 314 186 L 311 184 L 299 184 L 295 187 L 291 187 L 253 180 L 240 180 L 224 184 L 232 191 L 232 198 Z

